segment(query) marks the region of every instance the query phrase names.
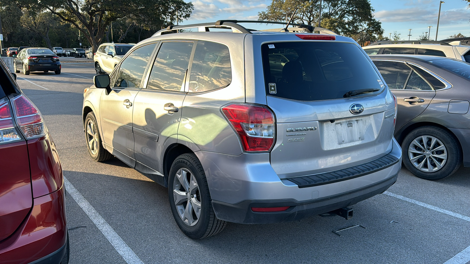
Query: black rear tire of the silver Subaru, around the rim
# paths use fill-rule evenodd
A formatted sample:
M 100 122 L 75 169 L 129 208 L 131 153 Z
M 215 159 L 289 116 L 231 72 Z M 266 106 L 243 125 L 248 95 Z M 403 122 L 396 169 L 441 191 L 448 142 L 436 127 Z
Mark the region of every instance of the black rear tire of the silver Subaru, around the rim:
M 180 169 L 192 172 L 198 185 L 198 194 L 201 201 L 201 213 L 196 225 L 189 226 L 181 219 L 176 204 L 174 202 L 173 189 L 176 173 Z M 189 173 L 191 175 L 191 173 Z M 173 217 L 181 231 L 192 239 L 203 239 L 210 237 L 222 231 L 227 225 L 226 221 L 222 221 L 215 217 L 212 209 L 211 194 L 205 177 L 204 169 L 194 154 L 182 154 L 178 156 L 172 164 L 168 177 L 168 198 L 172 209 Z

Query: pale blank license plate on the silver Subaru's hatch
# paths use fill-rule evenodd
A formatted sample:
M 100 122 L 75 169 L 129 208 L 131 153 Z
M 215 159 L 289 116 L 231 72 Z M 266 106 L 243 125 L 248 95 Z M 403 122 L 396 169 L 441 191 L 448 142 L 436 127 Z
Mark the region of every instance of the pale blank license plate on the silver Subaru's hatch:
M 347 120 L 336 124 L 338 144 L 347 144 L 364 140 L 365 122 L 362 119 Z

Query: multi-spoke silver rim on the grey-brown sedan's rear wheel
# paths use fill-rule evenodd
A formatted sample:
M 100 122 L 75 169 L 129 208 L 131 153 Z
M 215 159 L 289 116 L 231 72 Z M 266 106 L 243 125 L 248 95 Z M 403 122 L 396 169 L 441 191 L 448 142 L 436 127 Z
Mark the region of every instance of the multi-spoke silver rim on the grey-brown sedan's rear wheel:
M 439 171 L 447 161 L 447 149 L 441 140 L 433 136 L 419 136 L 411 141 L 408 157 L 418 170 Z

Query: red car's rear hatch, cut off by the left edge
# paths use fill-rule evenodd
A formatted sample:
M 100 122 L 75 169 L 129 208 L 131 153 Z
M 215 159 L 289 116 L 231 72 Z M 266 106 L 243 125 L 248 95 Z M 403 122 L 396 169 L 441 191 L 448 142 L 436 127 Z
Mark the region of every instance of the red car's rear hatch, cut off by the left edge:
M 28 148 L 8 95 L 19 93 L 0 61 L 0 241 L 21 225 L 32 207 Z

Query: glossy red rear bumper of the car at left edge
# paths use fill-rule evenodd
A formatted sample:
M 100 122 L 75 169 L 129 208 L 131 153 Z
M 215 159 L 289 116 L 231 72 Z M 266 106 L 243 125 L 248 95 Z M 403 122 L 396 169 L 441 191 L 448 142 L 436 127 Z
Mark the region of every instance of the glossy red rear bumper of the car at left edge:
M 33 200 L 23 224 L 0 243 L 0 263 L 60 263 L 67 242 L 64 198 L 61 188 Z

